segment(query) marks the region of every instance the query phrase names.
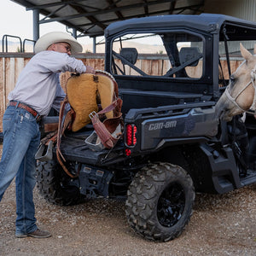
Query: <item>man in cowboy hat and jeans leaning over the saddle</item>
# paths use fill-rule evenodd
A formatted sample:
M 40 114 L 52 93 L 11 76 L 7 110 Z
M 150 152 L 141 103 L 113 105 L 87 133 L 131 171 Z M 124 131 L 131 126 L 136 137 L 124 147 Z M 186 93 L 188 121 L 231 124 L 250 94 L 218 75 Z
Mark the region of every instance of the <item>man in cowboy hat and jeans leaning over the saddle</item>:
M 60 98 L 59 73 L 95 73 L 92 67 L 71 57 L 81 52 L 79 42 L 65 32 L 49 32 L 35 44 L 35 53 L 9 93 L 3 115 L 3 155 L 0 162 L 0 201 L 15 178 L 16 237 L 46 238 L 48 231 L 36 224 L 32 190 L 35 186 L 35 154 L 40 143 L 38 120 Z

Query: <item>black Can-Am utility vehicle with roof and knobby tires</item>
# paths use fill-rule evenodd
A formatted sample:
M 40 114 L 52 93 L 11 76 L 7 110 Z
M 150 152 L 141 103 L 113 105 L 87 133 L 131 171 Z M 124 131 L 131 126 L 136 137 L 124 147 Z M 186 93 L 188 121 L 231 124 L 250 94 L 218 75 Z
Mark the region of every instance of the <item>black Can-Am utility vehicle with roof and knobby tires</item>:
M 137 233 L 168 241 L 188 224 L 195 192 L 223 194 L 256 182 L 255 119 L 214 119 L 239 43 L 253 49 L 256 24 L 166 15 L 113 23 L 105 38 L 105 71 L 119 84 L 124 137 L 110 150 L 93 151 L 84 143 L 92 125 L 66 132 L 61 153 L 79 175 L 63 172 L 53 148 L 52 160 L 38 161 L 38 188 L 63 205 L 123 198 Z

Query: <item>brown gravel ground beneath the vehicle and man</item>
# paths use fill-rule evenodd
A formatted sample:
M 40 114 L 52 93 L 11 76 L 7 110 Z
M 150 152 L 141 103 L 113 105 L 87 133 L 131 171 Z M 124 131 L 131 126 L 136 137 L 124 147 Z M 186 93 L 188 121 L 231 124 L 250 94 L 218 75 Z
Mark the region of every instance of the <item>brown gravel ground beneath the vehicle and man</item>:
M 38 225 L 52 237 L 15 238 L 15 183 L 0 203 L 0 255 L 256 255 L 256 184 L 225 195 L 196 195 L 183 234 L 166 243 L 137 236 L 125 204 L 95 200 L 73 207 L 49 204 L 35 189 Z

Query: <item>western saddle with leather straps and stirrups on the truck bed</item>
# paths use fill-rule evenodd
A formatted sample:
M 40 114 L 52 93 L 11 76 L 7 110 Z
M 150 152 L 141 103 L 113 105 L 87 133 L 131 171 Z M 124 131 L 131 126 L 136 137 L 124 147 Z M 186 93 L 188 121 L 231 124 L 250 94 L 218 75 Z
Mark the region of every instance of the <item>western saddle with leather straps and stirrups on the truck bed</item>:
M 123 134 L 122 100 L 118 97 L 118 84 L 113 76 L 103 71 L 72 75 L 67 79 L 66 91 L 67 96 L 61 102 L 58 129 L 41 140 L 36 159 L 52 159 L 51 149 L 56 143 L 57 159 L 64 171 L 73 177 L 63 164 L 66 160 L 61 154 L 61 136 L 66 130 L 76 132 L 92 123 L 94 131 L 84 143 L 92 150 L 113 148 Z M 70 104 L 69 111 L 66 110 L 67 103 Z

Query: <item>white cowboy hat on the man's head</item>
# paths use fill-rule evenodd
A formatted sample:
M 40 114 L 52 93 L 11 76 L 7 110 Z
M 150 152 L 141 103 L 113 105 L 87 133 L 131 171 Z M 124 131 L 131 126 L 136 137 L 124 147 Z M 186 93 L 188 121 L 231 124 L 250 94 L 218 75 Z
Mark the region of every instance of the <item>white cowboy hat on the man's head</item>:
M 70 44 L 71 52 L 81 52 L 83 47 L 79 42 L 66 32 L 49 32 L 38 39 L 35 44 L 35 53 L 46 50 L 50 44 L 65 42 Z

